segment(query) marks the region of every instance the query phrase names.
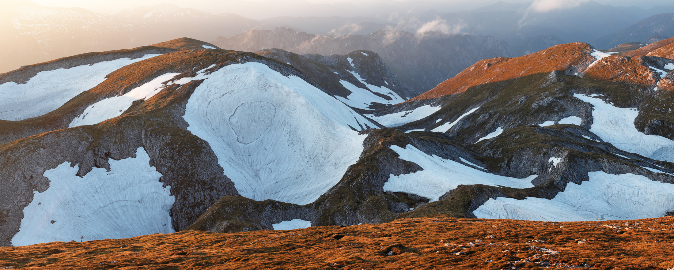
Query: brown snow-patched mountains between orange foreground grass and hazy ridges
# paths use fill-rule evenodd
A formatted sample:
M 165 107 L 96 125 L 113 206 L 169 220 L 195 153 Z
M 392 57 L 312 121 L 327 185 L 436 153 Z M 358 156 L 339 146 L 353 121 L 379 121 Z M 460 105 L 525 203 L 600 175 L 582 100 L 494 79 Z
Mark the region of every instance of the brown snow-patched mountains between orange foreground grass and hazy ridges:
M 4 73 L 1 243 L 674 213 L 674 60 L 559 44 L 397 103 L 379 57 L 181 38 Z

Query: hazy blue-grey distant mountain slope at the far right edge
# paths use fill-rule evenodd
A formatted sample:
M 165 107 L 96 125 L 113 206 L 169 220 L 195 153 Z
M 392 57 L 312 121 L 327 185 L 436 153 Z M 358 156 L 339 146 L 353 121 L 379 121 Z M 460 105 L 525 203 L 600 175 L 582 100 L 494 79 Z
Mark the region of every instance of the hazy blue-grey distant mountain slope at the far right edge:
M 674 13 L 652 15 L 625 29 L 592 40 L 599 48 L 611 48 L 625 42 L 645 42 L 651 36 L 674 36 Z

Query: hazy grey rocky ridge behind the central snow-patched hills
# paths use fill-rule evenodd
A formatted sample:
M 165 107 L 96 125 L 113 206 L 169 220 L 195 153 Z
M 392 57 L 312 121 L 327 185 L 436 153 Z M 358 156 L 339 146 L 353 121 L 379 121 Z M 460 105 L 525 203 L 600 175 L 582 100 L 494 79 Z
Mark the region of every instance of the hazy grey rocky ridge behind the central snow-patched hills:
M 377 53 L 408 88 L 426 92 L 475 61 L 510 56 L 508 45 L 491 36 L 425 32 L 412 34 L 380 30 L 361 35 L 330 36 L 295 32 L 289 28 L 250 30 L 212 42 L 220 48 L 255 52 L 281 48 L 297 54 L 344 55 L 353 50 Z M 450 49 L 448 49 L 450 48 Z

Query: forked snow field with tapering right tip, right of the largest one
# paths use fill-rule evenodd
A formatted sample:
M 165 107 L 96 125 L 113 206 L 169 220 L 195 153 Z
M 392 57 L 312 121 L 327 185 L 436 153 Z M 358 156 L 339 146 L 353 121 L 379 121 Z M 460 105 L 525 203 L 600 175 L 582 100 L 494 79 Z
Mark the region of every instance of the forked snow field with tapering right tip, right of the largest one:
M 412 145 L 405 148 L 392 145 L 391 149 L 400 155 L 400 159 L 414 162 L 423 170 L 411 174 L 391 174 L 388 182 L 384 183 L 384 191 L 404 192 L 426 197 L 431 201 L 437 201 L 440 196 L 456 189 L 459 184 L 487 184 L 489 186 L 514 187 L 526 189 L 534 187 L 531 180 L 536 174 L 527 178 L 512 178 L 483 172 L 476 168 L 466 166 L 453 160 L 446 160 L 435 155 L 425 154 Z M 463 160 L 466 164 L 471 164 Z M 471 164 L 481 168 L 475 164 Z

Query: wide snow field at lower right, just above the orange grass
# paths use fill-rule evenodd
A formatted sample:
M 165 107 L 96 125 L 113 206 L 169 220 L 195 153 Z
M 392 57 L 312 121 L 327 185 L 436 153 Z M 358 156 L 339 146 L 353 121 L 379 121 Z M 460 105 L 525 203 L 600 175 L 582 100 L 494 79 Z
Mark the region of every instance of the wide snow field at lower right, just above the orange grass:
M 477 218 L 535 221 L 636 220 L 662 217 L 674 207 L 674 184 L 636 174 L 588 172 L 590 180 L 569 182 L 555 198 L 489 199 L 475 211 Z

